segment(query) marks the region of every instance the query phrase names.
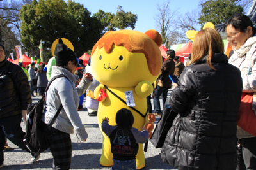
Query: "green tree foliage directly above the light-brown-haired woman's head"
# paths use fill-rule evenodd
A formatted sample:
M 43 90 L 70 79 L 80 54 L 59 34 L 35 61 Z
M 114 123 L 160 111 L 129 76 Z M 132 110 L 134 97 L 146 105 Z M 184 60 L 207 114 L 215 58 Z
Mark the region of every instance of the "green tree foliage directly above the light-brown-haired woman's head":
M 199 24 L 212 22 L 214 25 L 224 23 L 236 13 L 242 13 L 243 7 L 236 4 L 237 0 L 209 0 L 200 4 L 202 15 Z

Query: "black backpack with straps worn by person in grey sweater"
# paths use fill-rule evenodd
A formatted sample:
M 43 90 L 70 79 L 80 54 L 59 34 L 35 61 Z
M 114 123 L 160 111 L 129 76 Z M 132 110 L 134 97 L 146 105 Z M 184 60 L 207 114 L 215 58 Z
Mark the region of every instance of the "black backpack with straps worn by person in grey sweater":
M 33 153 L 44 152 L 49 148 L 49 143 L 48 143 L 48 136 L 50 132 L 49 130 L 51 130 L 52 124 L 55 122 L 63 106 L 62 104 L 60 105 L 60 108 L 58 109 L 57 113 L 52 119 L 51 124 L 46 125 L 41 121 L 43 111 L 44 111 L 44 102 L 45 102 L 44 97 L 52 81 L 60 77 L 66 77 L 66 76 L 59 75 L 52 78 L 52 80 L 49 81 L 45 89 L 42 99 L 40 99 L 40 101 L 38 101 L 37 103 L 29 104 L 28 106 L 28 109 L 27 109 L 28 120 L 26 124 L 26 135 L 24 136 L 23 141 L 30 152 L 33 152 Z

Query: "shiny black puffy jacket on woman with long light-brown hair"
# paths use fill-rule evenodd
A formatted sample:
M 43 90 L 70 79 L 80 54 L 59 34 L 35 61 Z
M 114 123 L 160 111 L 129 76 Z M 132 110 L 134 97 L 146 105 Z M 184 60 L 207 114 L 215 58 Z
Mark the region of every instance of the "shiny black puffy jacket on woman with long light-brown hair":
M 236 117 L 242 94 L 239 69 L 215 53 L 185 67 L 170 95 L 179 113 L 166 136 L 161 158 L 177 169 L 236 169 Z

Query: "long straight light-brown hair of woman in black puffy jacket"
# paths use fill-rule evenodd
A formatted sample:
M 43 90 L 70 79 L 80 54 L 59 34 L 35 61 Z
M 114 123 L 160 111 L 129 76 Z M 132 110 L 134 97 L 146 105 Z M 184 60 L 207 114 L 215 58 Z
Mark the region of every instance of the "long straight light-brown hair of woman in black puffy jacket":
M 197 32 L 192 48 L 191 64 L 207 57 L 207 64 L 215 69 L 211 64 L 214 53 L 224 53 L 222 38 L 218 31 L 211 28 L 202 29 Z

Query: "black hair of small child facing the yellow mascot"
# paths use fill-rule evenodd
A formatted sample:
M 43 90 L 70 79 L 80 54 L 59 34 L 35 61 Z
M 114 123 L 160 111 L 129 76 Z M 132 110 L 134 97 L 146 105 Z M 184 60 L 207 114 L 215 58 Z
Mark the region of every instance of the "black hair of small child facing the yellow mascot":
M 131 129 L 134 117 L 130 110 L 122 108 L 116 113 L 116 125 L 120 129 Z

